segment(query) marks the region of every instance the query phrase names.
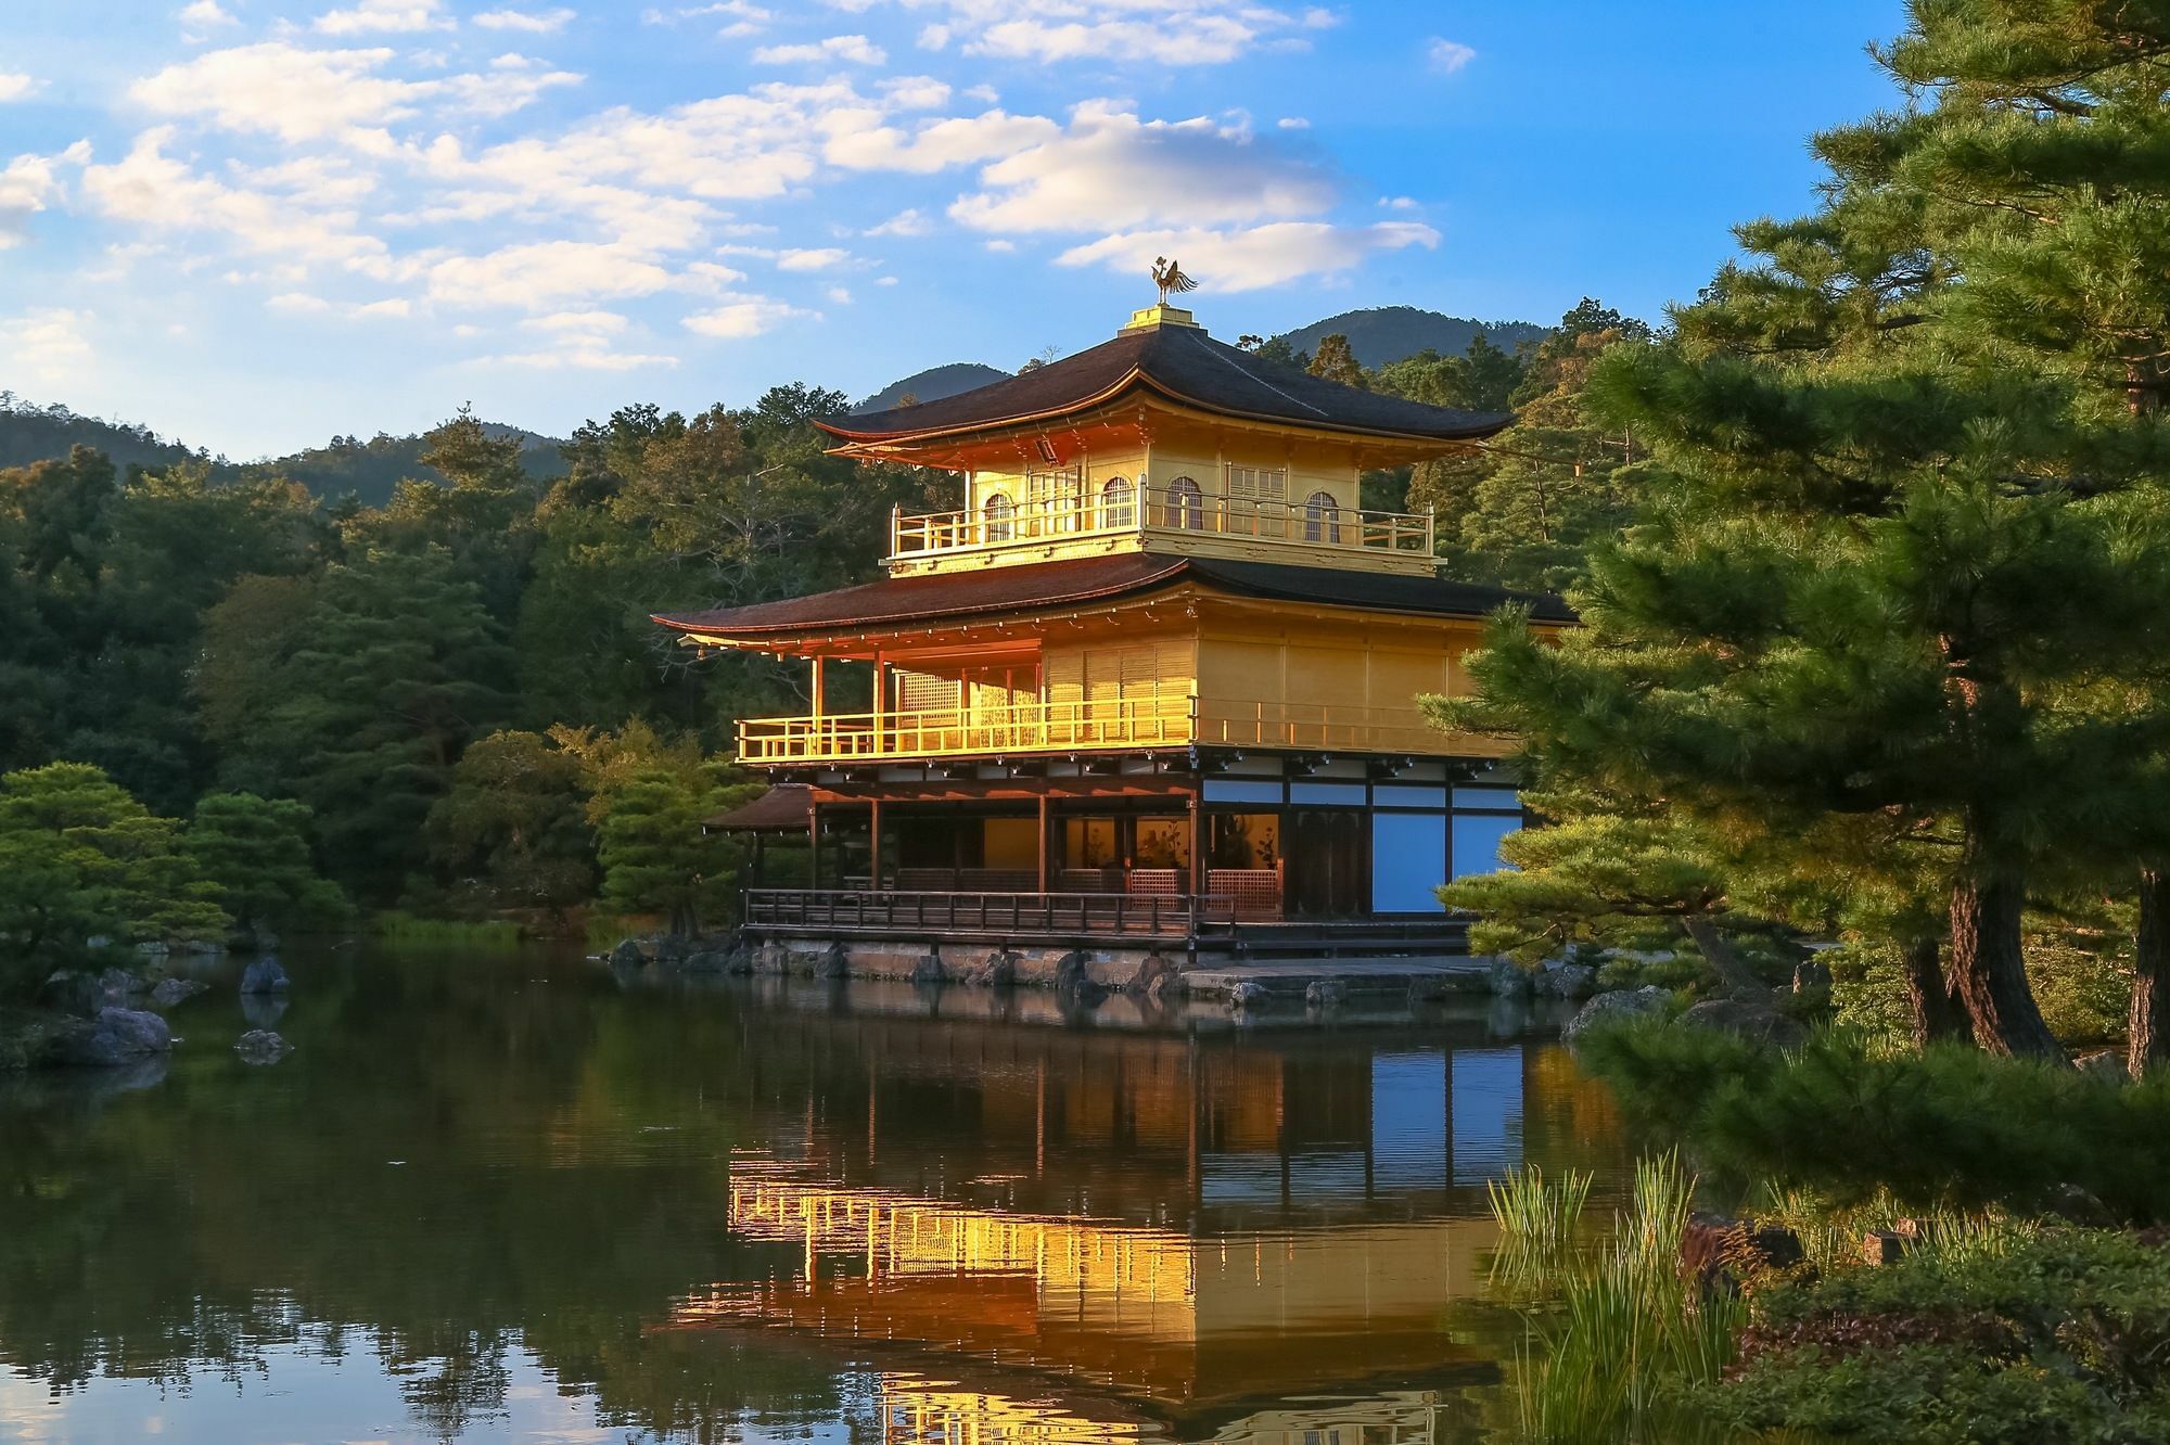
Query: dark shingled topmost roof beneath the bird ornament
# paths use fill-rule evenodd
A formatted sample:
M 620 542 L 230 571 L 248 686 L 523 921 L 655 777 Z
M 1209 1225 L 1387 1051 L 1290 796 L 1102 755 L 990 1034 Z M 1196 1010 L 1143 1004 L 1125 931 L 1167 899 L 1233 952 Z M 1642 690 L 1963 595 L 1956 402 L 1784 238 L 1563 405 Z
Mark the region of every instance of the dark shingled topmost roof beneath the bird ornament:
M 1226 417 L 1369 436 L 1469 440 L 1512 421 L 1508 412 L 1463 412 L 1343 386 L 1224 345 L 1191 325 L 1154 325 L 955 397 L 816 425 L 844 440 L 898 440 L 1074 412 L 1111 401 L 1128 386 Z

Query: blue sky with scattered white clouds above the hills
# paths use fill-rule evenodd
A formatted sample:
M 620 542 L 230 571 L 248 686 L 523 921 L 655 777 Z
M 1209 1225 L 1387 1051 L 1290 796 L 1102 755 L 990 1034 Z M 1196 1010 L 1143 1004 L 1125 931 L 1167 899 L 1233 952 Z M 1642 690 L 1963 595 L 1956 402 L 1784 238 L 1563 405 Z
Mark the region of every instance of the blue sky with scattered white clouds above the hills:
M 0 388 L 234 458 L 1356 306 L 1656 319 L 1899 0 L 7 0 Z

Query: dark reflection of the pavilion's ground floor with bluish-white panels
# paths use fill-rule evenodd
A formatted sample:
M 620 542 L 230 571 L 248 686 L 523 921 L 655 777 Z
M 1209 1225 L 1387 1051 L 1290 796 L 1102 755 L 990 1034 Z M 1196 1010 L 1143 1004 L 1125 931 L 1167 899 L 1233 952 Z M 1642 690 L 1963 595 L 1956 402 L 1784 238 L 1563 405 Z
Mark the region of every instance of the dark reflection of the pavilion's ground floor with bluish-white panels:
M 768 1100 L 805 1100 L 770 1137 L 820 1178 L 1194 1232 L 1482 1215 L 1486 1178 L 1556 1163 L 1584 1089 L 1476 1020 L 1183 1037 L 775 1011 L 744 1048 L 777 1074 Z

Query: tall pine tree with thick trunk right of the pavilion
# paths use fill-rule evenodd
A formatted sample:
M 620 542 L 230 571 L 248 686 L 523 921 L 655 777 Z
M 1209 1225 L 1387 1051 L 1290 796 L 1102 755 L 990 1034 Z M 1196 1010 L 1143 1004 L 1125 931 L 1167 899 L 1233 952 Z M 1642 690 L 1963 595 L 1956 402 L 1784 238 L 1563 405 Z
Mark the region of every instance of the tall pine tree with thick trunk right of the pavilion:
M 1877 818 L 1949 900 L 1977 1039 L 2057 1057 L 2029 887 L 2116 842 L 2170 731 L 2163 35 L 2081 0 L 1912 17 L 1879 56 L 1927 104 L 1818 137 L 1825 206 L 1740 228 L 1675 349 L 1597 365 L 1662 490 L 1586 638 L 1502 636 L 1478 709 L 1706 827 Z

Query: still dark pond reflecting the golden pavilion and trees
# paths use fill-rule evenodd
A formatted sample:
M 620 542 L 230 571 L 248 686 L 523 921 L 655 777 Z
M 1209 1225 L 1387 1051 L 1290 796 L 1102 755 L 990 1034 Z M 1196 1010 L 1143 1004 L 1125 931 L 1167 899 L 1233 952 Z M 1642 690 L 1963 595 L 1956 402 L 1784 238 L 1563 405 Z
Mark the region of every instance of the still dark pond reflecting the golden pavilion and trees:
M 0 1076 L 0 1441 L 1506 1441 L 1484 1180 L 1628 1169 L 1482 1005 L 286 963 Z

